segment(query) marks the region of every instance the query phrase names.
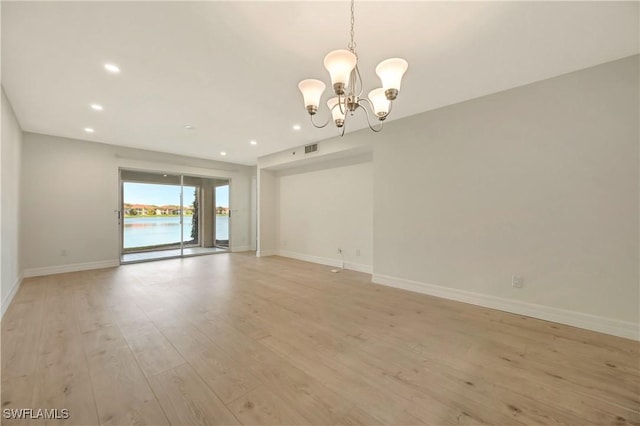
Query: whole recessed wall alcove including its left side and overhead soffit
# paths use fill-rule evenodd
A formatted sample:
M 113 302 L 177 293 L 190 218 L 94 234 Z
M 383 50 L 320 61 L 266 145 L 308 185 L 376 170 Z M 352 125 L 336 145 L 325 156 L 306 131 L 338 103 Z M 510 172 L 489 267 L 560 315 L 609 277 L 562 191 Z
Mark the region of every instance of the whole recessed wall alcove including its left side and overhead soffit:
M 346 268 L 371 272 L 371 140 L 334 137 L 317 148 L 258 158 L 259 255 L 340 266 L 340 247 Z

